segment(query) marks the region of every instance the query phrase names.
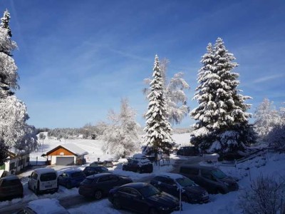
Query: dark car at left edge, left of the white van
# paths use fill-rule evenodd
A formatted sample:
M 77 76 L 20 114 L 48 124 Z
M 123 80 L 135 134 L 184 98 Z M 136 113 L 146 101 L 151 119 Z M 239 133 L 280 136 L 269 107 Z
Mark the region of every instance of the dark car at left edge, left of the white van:
M 23 185 L 16 175 L 0 179 L 0 200 L 23 197 Z

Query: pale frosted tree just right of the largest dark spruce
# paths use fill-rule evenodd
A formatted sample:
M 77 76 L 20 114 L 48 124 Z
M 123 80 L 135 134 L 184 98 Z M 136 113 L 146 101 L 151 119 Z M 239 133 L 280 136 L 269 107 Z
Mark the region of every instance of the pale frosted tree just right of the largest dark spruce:
M 273 102 L 269 101 L 268 98 L 264 98 L 262 103 L 257 107 L 254 118 L 254 130 L 261 140 L 264 140 L 264 137 L 268 135 L 272 128 L 281 122 L 279 112 L 276 111 Z

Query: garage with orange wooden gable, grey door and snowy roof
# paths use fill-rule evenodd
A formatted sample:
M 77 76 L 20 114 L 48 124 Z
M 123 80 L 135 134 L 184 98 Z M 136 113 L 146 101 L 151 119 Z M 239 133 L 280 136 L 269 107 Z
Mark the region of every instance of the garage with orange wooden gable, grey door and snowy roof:
M 82 165 L 88 152 L 75 144 L 65 144 L 46 153 L 50 165 Z

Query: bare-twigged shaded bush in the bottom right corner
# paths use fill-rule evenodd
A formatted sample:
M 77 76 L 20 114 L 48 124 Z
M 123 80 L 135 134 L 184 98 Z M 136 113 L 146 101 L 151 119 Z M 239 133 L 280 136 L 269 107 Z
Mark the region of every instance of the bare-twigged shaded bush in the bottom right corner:
M 247 214 L 276 214 L 285 212 L 284 178 L 259 175 L 251 188 L 240 195 L 239 206 Z

